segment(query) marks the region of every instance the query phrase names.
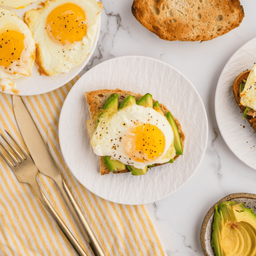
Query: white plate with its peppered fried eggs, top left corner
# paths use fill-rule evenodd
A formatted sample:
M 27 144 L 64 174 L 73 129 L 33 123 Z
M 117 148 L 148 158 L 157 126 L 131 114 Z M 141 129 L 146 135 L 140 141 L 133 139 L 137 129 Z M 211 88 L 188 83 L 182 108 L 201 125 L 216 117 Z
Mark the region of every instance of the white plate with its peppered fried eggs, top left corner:
M 57 89 L 88 63 L 98 41 L 95 0 L 0 2 L 0 91 L 36 95 Z

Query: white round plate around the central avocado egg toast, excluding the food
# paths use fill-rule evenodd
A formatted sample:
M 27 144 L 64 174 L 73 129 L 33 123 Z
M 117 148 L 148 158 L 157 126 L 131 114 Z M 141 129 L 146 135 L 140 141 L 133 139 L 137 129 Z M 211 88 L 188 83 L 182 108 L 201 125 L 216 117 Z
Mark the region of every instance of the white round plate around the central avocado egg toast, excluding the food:
M 151 93 L 179 120 L 186 139 L 183 155 L 174 163 L 139 176 L 100 175 L 99 156 L 93 153 L 86 129 L 91 117 L 85 92 L 116 88 Z M 181 188 L 201 162 L 207 136 L 205 108 L 194 86 L 166 63 L 141 56 L 110 59 L 87 71 L 69 92 L 59 121 L 61 151 L 76 179 L 94 194 L 121 204 L 154 202 Z

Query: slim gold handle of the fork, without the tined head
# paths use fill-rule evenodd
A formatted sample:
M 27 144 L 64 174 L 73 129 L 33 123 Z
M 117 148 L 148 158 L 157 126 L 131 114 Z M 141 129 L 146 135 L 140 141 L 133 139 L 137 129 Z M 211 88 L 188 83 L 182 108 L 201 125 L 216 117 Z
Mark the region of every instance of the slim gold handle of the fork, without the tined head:
M 31 182 L 30 185 L 32 186 L 32 188 L 34 189 L 36 195 L 38 196 L 38 198 L 40 199 L 40 201 L 42 202 L 43 206 L 46 208 L 46 210 L 50 213 L 50 215 L 53 217 L 53 219 L 56 221 L 56 223 L 58 224 L 59 228 L 61 229 L 61 231 L 64 233 L 64 235 L 67 237 L 68 241 L 70 242 L 70 244 L 73 246 L 73 248 L 75 249 L 75 251 L 77 252 L 77 254 L 79 256 L 88 256 L 85 251 L 83 250 L 83 248 L 81 247 L 81 245 L 77 242 L 77 240 L 75 239 L 75 237 L 73 236 L 73 234 L 70 232 L 70 230 L 68 229 L 68 227 L 65 225 L 65 223 L 62 221 L 62 219 L 60 218 L 60 216 L 58 215 L 58 213 L 55 211 L 55 209 L 53 208 L 52 204 L 49 202 L 49 200 L 46 198 L 46 196 L 44 195 L 43 191 L 41 190 L 41 188 L 39 187 L 37 181 L 35 182 Z

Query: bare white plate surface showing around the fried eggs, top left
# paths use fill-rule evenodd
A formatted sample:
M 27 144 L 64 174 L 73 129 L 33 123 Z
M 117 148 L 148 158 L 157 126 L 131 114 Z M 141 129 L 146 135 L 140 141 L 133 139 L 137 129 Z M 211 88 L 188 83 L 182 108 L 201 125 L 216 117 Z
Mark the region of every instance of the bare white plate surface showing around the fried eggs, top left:
M 39 7 L 39 3 L 41 3 L 41 0 L 38 0 L 32 4 L 29 4 L 25 8 L 21 8 L 21 9 L 15 9 L 15 8 L 10 8 L 10 7 L 3 7 L 3 6 L 0 6 L 0 8 L 10 9 L 10 10 L 16 12 L 19 15 L 19 17 L 22 18 L 24 16 L 25 12 L 27 12 L 31 9 L 37 9 Z M 71 69 L 69 72 L 59 74 L 59 75 L 54 75 L 54 76 L 40 75 L 37 70 L 38 66 L 36 63 L 34 63 L 32 70 L 31 70 L 31 76 L 22 77 L 22 78 L 15 80 L 16 87 L 20 91 L 19 95 L 29 96 L 29 95 L 42 94 L 42 93 L 53 91 L 53 90 L 65 85 L 66 83 L 68 83 L 89 62 L 89 60 L 95 50 L 95 47 L 97 45 L 99 33 L 100 33 L 100 19 L 99 19 L 97 35 L 95 37 L 93 47 L 92 47 L 91 51 L 89 52 L 88 57 L 79 66 Z M 0 91 L 2 92 L 1 87 L 0 87 Z M 5 93 L 13 94 L 11 91 L 5 91 Z

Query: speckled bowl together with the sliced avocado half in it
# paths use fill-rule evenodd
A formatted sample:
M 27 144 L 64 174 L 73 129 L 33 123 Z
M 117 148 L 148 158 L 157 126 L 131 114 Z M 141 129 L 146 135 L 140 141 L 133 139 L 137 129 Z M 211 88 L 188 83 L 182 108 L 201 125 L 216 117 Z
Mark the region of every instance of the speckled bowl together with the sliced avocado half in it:
M 234 255 L 256 255 L 255 209 L 255 194 L 230 194 L 216 202 L 201 226 L 200 242 L 204 255 L 233 255 L 232 252 L 236 252 Z M 222 222 L 214 222 L 220 217 Z M 221 242 L 218 240 L 220 234 L 225 238 Z

